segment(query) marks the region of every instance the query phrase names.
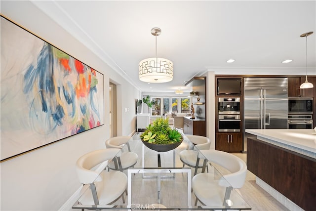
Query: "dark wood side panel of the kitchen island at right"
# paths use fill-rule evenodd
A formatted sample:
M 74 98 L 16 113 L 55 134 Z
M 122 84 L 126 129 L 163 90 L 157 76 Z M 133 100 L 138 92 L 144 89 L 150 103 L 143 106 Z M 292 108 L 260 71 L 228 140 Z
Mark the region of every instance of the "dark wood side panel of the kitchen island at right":
M 315 209 L 315 158 L 256 138 L 248 138 L 247 167 L 302 209 Z

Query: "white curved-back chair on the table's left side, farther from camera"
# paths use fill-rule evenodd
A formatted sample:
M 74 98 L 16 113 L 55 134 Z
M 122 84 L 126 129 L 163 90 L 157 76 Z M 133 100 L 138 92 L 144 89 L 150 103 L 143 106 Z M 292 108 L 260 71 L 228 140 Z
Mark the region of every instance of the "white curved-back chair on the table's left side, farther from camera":
M 128 144 L 128 140 L 130 136 L 116 136 L 109 138 L 105 141 L 106 148 L 117 148 L 121 149 L 124 144 L 127 145 L 128 150 L 126 152 L 122 152 L 118 157 L 118 162 L 111 162 L 109 164 L 109 169 L 120 170 L 123 171 L 125 169 L 133 167 L 137 163 L 138 156 L 136 153 L 130 151 L 130 147 Z M 117 164 L 117 165 L 116 165 Z

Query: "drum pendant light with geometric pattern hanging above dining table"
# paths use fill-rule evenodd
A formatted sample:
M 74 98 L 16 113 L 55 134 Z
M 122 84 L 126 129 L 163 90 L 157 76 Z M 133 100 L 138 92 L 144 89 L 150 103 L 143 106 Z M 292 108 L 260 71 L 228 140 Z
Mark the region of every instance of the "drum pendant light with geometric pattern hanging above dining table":
M 173 63 L 157 56 L 157 36 L 161 34 L 161 30 L 156 27 L 151 33 L 156 37 L 156 57 L 139 62 L 139 80 L 147 83 L 170 82 L 173 79 Z

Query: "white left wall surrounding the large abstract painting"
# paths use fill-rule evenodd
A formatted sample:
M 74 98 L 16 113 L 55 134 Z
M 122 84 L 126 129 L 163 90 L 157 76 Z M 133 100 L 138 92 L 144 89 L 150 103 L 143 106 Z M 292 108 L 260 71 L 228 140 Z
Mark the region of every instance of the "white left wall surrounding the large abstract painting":
M 0 210 L 58 210 L 80 187 L 75 171 L 77 159 L 91 150 L 104 148 L 104 142 L 109 138 L 110 79 L 119 87 L 118 133 L 121 135 L 135 131 L 135 99 L 140 99 L 141 93 L 30 1 L 1 0 L 0 9 L 8 19 L 104 74 L 104 126 L 0 164 Z M 125 108 L 128 108 L 126 112 Z

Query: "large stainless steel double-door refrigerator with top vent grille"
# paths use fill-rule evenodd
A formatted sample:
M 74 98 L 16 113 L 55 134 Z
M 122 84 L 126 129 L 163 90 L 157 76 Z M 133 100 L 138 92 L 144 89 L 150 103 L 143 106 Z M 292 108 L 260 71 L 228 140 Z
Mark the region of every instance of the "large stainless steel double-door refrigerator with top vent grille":
M 245 129 L 286 129 L 287 110 L 287 78 L 244 78 L 243 152 L 254 136 Z

